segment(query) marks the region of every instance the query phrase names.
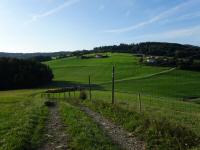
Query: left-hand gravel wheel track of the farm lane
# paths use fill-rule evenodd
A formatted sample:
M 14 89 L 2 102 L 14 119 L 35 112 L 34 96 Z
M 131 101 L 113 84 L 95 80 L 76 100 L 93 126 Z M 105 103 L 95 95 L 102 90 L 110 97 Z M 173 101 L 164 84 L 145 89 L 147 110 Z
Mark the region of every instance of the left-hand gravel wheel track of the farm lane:
M 49 119 L 45 133 L 46 143 L 39 150 L 66 150 L 67 135 L 64 131 L 58 106 L 49 106 Z

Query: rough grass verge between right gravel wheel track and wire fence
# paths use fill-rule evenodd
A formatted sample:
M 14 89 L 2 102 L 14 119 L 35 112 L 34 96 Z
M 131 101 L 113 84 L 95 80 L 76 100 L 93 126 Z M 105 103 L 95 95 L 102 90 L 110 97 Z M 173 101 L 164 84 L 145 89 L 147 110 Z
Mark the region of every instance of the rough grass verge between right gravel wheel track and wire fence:
M 86 101 L 84 104 L 146 141 L 147 149 L 185 150 L 200 143 L 200 137 L 190 129 L 170 123 L 165 118 L 149 119 L 145 114 L 99 101 Z

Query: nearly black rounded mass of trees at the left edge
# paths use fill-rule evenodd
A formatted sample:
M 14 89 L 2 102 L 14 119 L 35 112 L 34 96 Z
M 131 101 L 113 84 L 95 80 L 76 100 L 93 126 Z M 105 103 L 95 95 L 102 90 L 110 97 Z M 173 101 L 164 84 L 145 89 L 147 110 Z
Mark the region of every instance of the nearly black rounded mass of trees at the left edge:
M 33 60 L 0 58 L 0 89 L 32 88 L 50 82 L 52 70 Z

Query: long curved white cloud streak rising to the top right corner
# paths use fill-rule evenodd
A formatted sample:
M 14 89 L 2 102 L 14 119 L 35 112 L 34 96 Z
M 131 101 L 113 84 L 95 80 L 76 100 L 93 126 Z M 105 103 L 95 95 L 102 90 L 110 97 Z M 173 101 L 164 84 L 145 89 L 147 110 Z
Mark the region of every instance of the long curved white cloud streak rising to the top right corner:
M 129 26 L 129 27 L 124 27 L 124 28 L 118 28 L 118 29 L 109 29 L 109 30 L 105 30 L 104 32 L 107 33 L 123 33 L 123 32 L 129 32 L 129 31 L 133 31 L 136 30 L 138 28 L 144 27 L 146 25 L 152 24 L 152 23 L 156 23 L 162 19 L 165 19 L 171 15 L 173 15 L 174 13 L 176 13 L 177 11 L 181 10 L 183 7 L 188 6 L 190 3 L 193 4 L 194 2 L 197 2 L 197 0 L 188 0 L 186 2 L 183 2 L 181 4 L 178 4 L 166 11 L 161 12 L 159 15 L 154 16 L 153 18 L 140 22 L 136 25 L 133 26 Z

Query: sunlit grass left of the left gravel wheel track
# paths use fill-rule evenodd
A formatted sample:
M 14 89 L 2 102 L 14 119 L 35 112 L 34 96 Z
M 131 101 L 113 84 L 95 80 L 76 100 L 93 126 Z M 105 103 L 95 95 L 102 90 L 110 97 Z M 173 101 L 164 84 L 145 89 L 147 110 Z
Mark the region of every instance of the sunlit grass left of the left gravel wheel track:
M 0 92 L 0 150 L 36 148 L 48 114 L 39 91 Z

